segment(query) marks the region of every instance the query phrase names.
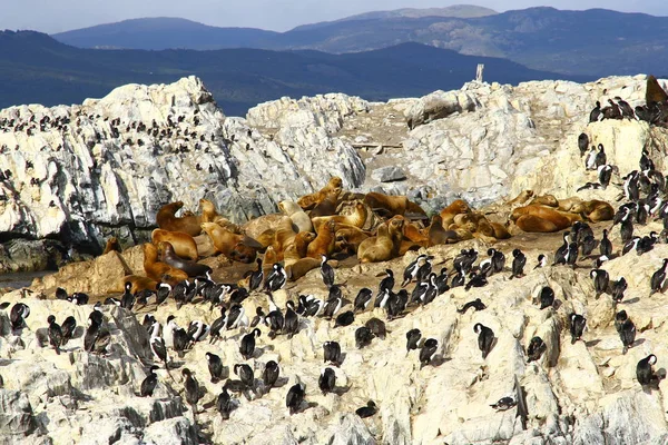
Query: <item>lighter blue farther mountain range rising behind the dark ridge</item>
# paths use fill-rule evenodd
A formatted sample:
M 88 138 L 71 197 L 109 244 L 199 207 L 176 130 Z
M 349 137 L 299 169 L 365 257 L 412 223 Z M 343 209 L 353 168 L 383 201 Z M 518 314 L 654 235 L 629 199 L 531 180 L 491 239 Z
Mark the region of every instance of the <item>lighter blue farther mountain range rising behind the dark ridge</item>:
M 668 18 L 603 9 L 530 8 L 494 13 L 454 9 L 369 12 L 287 32 L 138 19 L 53 36 L 81 48 L 312 49 L 361 52 L 404 42 L 507 58 L 529 68 L 595 77 L 666 72 Z

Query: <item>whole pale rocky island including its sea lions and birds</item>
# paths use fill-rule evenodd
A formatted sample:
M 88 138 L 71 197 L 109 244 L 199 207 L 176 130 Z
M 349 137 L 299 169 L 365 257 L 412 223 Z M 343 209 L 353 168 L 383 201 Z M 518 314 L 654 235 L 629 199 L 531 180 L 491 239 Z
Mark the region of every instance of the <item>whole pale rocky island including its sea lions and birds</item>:
M 665 89 L 1 110 L 0 442 L 666 443 Z

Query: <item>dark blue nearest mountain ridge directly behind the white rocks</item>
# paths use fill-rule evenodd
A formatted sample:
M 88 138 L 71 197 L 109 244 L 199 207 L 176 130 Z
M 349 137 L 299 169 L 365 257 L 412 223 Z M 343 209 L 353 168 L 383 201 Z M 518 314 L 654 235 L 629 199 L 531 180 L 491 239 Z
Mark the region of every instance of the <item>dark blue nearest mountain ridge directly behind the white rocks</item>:
M 460 88 L 485 65 L 485 80 L 589 80 L 536 71 L 497 58 L 462 56 L 419 43 L 331 55 L 259 49 L 94 50 L 35 31 L 0 32 L 0 108 L 18 103 L 81 102 L 126 83 L 168 83 L 196 75 L 227 115 L 245 115 L 283 96 L 345 92 L 367 100 Z

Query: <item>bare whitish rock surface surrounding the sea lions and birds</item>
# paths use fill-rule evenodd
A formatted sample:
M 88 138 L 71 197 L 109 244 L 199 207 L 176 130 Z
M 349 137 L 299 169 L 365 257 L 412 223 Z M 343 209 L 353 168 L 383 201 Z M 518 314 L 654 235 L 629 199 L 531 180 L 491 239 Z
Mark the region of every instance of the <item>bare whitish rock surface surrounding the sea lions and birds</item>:
M 430 210 L 454 197 L 482 206 L 527 188 L 564 198 L 595 180 L 579 156 L 582 131 L 592 144 L 605 145 L 620 176 L 637 168 L 642 149 L 664 170 L 665 129 L 638 121 L 588 123 L 596 100 L 621 96 L 637 105 L 644 88 L 645 77 L 590 85 L 469 83 L 461 91 L 387 103 L 342 95 L 283 99 L 238 119 L 225 118 L 190 78 L 173 86 L 124 87 L 80 107 L 12 108 L 0 115 L 6 128 L 13 120 L 11 130 L 0 132 L 7 146 L 0 157 L 6 178 L 0 220 L 8 236 L 60 235 L 75 243 L 125 230 L 127 243 L 150 227 L 167 200 L 178 198 L 194 209 L 205 195 L 240 220 L 272 211 L 283 197 L 318 188 L 331 175 L 341 176 L 345 188 L 409 194 Z M 616 176 L 607 190 L 580 196 L 613 201 L 618 181 Z M 609 222 L 592 227 L 600 238 Z M 637 233 L 660 229 L 652 221 Z M 617 229 L 611 239 L 620 249 Z M 657 245 L 642 256 L 631 253 L 602 266 L 611 279 L 623 276 L 629 285 L 615 305 L 608 295 L 596 297 L 584 259 L 577 268 L 533 269 L 538 255 L 551 256 L 560 243 L 560 235 L 536 234 L 497 243 L 509 258 L 507 268 L 511 250 L 522 248 L 529 259 L 525 277 L 510 281 L 504 270 L 483 288 L 446 291 L 387 322 L 386 338 L 374 338 L 363 349 L 355 346 L 355 329 L 371 317 L 385 319 L 382 309 L 370 308 L 346 327 L 323 317 L 302 318 L 299 333 L 289 339 L 271 339 L 263 327 L 258 350 L 248 360 L 239 353 L 244 333 L 225 332 L 216 345 L 206 340 L 184 357 L 174 354 L 170 375 L 160 368 L 156 393 L 147 398 L 137 395 L 153 362 L 141 317 L 150 309 L 164 324 L 176 315 L 186 327 L 194 319 L 212 323 L 218 314 L 202 304 L 177 309 L 171 301 L 134 314 L 106 306 L 111 347 L 105 355 L 89 354 L 82 350 L 82 326 L 91 305 L 52 300 L 53 287 L 79 283 L 69 290 L 86 290 L 84 281 L 117 279 L 140 268 L 139 249 L 63 268 L 36 285 L 35 293 L 1 297 L 10 306 L 0 310 L 0 443 L 665 444 L 666 380 L 654 389 L 641 387 L 636 364 L 655 354 L 660 374 L 668 366 L 668 300 L 660 293 L 648 297 L 649 278 L 668 257 L 668 247 Z M 452 270 L 460 249 L 475 248 L 484 257 L 488 247 L 470 240 L 428 253 L 436 269 Z M 344 297 L 353 301 L 362 287 L 375 291 L 385 268 L 401 277 L 415 255 L 386 264 L 340 265 L 336 280 L 345 284 Z M 534 300 L 543 286 L 554 290 L 557 301 L 541 310 Z M 285 307 L 287 298 L 302 294 L 326 297 L 318 270 L 276 293 L 276 303 Z M 458 313 L 475 298 L 484 301 L 484 310 Z M 19 301 L 31 314 L 26 327 L 12 330 L 9 310 Z M 267 307 L 262 293 L 243 303 L 250 316 L 258 305 Z M 626 354 L 613 325 L 622 308 L 638 330 Z M 568 332 L 573 312 L 587 318 L 583 338 L 574 343 Z M 49 314 L 59 323 L 71 315 L 81 327 L 60 355 L 45 340 Z M 484 359 L 473 332 L 477 323 L 495 336 Z M 405 334 L 413 328 L 438 340 L 428 366 L 420 366 L 419 352 L 406 352 Z M 528 363 L 525 349 L 534 336 L 547 348 Z M 317 380 L 326 340 L 337 340 L 344 358 L 335 368 L 336 390 L 323 395 Z M 223 383 L 209 380 L 207 352 L 223 358 L 232 379 L 238 378 L 235 364 L 247 363 L 255 372 L 255 390 L 233 395 L 229 419 L 215 408 Z M 261 378 L 268 360 L 281 366 L 271 390 Z M 186 366 L 203 386 L 197 418 L 184 400 L 180 369 Z M 285 397 L 296 376 L 306 386 L 308 406 L 289 415 Z M 515 377 L 524 394 L 524 417 L 518 417 L 517 408 L 498 412 L 490 406 L 501 397 L 517 397 Z M 354 411 L 369 399 L 379 412 L 361 419 Z

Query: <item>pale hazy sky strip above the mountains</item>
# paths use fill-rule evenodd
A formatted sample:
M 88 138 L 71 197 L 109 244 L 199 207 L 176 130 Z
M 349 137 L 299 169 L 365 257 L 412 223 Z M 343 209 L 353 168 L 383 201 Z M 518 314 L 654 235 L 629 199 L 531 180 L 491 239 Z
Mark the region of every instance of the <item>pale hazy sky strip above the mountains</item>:
M 253 27 L 285 31 L 298 24 L 399 8 L 433 8 L 465 3 L 430 0 L 2 0 L 0 30 L 60 32 L 140 17 L 181 17 L 218 27 Z M 549 4 L 548 4 L 549 3 Z M 551 6 L 558 9 L 606 8 L 668 16 L 668 0 L 480 0 L 497 11 Z

